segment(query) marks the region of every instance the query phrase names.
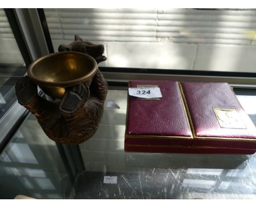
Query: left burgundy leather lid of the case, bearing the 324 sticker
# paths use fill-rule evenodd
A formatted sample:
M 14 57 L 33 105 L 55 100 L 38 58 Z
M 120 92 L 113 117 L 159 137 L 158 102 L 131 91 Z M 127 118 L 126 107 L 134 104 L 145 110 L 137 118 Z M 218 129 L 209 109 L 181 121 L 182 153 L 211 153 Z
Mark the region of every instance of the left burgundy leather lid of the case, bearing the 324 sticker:
M 126 136 L 192 137 L 178 82 L 130 81 L 129 86 L 146 84 L 158 85 L 161 100 L 138 100 L 129 96 Z

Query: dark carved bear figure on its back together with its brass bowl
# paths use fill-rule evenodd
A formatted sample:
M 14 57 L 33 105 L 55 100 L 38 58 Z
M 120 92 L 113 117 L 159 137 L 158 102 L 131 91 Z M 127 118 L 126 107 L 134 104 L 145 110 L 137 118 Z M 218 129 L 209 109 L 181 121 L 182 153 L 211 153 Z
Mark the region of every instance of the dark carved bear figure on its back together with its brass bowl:
M 97 65 L 107 60 L 104 46 L 83 41 L 78 35 L 74 38 L 71 44 L 60 45 L 59 53 L 33 62 L 28 69 L 30 77 L 21 77 L 15 91 L 18 102 L 36 116 L 50 139 L 77 145 L 97 131 L 108 84 Z M 38 95 L 38 85 L 61 100 Z

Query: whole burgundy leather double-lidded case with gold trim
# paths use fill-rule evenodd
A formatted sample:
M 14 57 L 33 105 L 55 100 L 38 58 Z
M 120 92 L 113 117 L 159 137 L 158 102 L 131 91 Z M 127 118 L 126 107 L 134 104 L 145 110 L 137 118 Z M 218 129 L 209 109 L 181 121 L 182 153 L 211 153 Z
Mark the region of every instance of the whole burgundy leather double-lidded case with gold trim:
M 125 151 L 254 154 L 256 128 L 227 83 L 129 83 L 138 85 L 158 85 L 162 98 L 128 95 Z

